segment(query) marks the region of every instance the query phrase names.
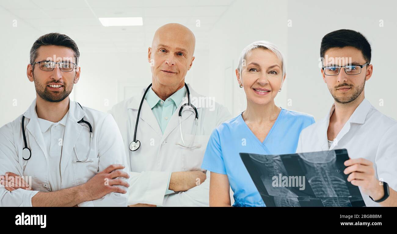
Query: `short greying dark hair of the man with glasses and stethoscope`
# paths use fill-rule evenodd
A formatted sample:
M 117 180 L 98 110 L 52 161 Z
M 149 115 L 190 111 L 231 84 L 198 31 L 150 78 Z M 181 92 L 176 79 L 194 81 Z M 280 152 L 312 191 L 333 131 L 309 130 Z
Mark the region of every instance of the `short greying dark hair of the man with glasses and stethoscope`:
M 60 34 L 58 32 L 52 32 L 40 36 L 35 43 L 33 43 L 30 49 L 30 63 L 34 63 L 37 58 L 37 50 L 40 46 L 65 46 L 70 48 L 74 52 L 76 57 L 76 63 L 79 64 L 80 52 L 75 41 L 73 41 L 69 36 L 65 34 Z

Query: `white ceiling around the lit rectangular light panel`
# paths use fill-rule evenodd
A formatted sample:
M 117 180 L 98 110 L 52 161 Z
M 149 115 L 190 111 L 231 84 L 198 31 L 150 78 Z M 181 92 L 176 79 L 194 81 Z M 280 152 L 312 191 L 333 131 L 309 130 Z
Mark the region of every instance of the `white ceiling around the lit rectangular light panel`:
M 85 51 L 143 52 L 155 30 L 166 23 L 189 27 L 196 50 L 208 48 L 208 32 L 234 0 L 19 0 L 1 1 L 3 7 L 37 30 L 67 34 Z M 143 26 L 104 27 L 99 17 L 143 17 Z M 197 27 L 197 20 L 200 27 Z

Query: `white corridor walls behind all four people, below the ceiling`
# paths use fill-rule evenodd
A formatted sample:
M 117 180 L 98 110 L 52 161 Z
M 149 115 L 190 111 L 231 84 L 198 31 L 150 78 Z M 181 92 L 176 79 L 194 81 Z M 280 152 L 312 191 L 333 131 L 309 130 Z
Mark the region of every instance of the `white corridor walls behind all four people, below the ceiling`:
M 331 5 L 330 5 L 331 4 Z M 394 6 L 393 6 L 394 5 Z M 351 6 L 348 5 L 348 6 Z M 235 68 L 241 50 L 255 40 L 274 42 L 286 57 L 287 79 L 276 97 L 276 104 L 289 110 L 323 118 L 332 103 L 323 83 L 318 58 L 322 36 L 332 30 L 348 28 L 362 32 L 372 45 L 374 74 L 366 83 L 367 99 L 380 111 L 397 119 L 397 86 L 394 57 L 397 17 L 396 2 L 366 0 L 355 2 L 352 12 L 344 1 L 234 1 L 214 25 L 190 26 L 193 32 L 213 27 L 207 37 L 196 42 L 195 61 L 186 81 L 203 95 L 226 105 L 234 116 L 245 109 L 245 94 L 238 87 Z M 331 10 L 329 10 L 331 9 Z M 17 27 L 13 27 L 13 20 Z M 200 19 L 200 17 L 198 17 Z M 291 20 L 292 27 L 288 27 Z M 379 27 L 383 20 L 384 27 Z M 158 26 L 168 21 L 156 22 Z M 26 77 L 29 50 L 43 31 L 36 24 L 19 19 L 0 7 L 0 126 L 25 112 L 35 98 L 34 84 Z M 93 29 L 94 30 L 94 29 Z M 112 51 L 102 45 L 93 32 L 92 41 L 75 36 L 66 27 L 58 32 L 69 34 L 81 51 L 81 79 L 72 98 L 82 105 L 107 111 L 115 103 L 133 95 L 136 87 L 146 87 L 151 80 L 146 60 L 151 36 L 141 43 L 142 50 Z M 205 42 L 205 43 L 204 43 Z M 93 46 L 98 44 L 98 46 Z M 209 46 L 206 46 L 206 45 Z M 108 67 L 98 66 L 98 62 Z M 135 88 L 131 87 L 135 86 Z M 128 93 L 124 93 L 127 90 Z M 288 106 L 288 100 L 292 106 Z M 379 100 L 384 106 L 379 105 Z M 16 100 L 16 105 L 15 104 Z

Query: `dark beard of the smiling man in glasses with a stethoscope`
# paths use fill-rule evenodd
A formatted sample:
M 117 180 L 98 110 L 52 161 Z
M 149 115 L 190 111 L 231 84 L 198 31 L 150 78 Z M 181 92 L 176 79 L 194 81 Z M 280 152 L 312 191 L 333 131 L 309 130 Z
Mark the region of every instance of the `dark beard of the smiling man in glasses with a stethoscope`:
M 62 83 L 62 82 L 52 82 L 52 83 L 59 83 L 64 86 L 62 91 L 50 91 L 47 89 L 46 84 L 40 83 L 38 80 L 35 79 L 35 76 L 33 75 L 33 81 L 35 82 L 35 88 L 37 94 L 44 99 L 45 101 L 51 102 L 51 103 L 58 103 L 60 101 L 63 101 L 66 99 L 71 91 L 73 90 L 73 82 L 71 86 L 69 87 L 68 84 Z

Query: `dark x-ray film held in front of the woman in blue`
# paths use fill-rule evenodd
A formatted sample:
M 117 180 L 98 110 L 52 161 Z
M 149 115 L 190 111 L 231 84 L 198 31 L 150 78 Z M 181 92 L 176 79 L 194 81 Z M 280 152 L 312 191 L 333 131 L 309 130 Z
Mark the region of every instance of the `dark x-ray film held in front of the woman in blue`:
M 266 206 L 365 206 L 343 173 L 346 149 L 240 157 Z

